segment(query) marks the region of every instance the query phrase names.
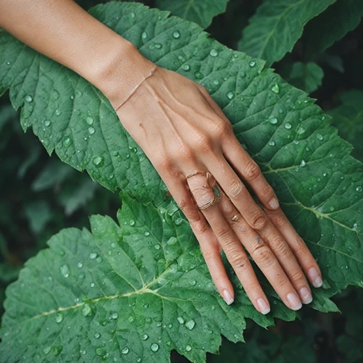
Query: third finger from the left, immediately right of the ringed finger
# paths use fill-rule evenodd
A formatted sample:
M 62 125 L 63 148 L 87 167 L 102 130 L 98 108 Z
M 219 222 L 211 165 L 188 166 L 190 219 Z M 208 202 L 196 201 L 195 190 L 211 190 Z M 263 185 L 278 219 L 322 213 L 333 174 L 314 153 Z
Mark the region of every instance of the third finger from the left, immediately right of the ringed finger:
M 264 243 L 264 240 L 253 230 L 233 203 L 221 191 L 220 210 L 237 237 L 242 241 L 251 257 L 261 269 L 264 276 L 269 280 L 277 294 L 285 305 L 292 310 L 301 308 L 301 300 L 296 294 L 294 286 L 286 276 L 284 269 L 274 256 L 272 250 Z

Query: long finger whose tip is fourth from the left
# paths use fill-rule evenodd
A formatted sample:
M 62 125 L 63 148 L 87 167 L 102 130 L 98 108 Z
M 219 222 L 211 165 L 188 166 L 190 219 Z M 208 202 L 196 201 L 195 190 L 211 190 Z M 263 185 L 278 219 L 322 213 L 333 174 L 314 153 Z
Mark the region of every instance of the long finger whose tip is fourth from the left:
M 225 194 L 227 194 L 243 218 L 270 247 L 303 302 L 310 303 L 311 290 L 308 281 L 306 281 L 306 277 L 287 242 L 279 231 L 274 228 L 274 225 L 262 209 L 257 206 L 228 162 L 223 157 L 217 156 L 214 162 L 210 160 L 211 158 L 207 160 L 206 167 L 216 177 Z

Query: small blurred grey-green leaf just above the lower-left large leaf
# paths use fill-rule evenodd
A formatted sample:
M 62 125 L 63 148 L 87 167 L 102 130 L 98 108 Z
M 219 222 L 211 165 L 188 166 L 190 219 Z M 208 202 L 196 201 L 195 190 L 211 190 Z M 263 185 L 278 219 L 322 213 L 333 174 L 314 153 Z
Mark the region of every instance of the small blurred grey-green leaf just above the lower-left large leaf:
M 65 208 L 66 216 L 70 216 L 82 206 L 86 205 L 92 198 L 99 184 L 89 177 L 83 178 L 79 185 L 62 191 L 60 195 L 60 203 Z

